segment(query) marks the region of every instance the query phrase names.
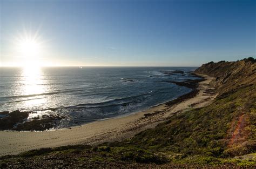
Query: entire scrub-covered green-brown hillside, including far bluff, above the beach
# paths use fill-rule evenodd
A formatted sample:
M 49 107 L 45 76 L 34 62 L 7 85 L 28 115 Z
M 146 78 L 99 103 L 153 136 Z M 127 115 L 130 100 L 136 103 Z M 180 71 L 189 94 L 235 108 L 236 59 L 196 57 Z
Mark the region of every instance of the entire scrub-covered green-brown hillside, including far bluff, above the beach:
M 255 59 L 210 62 L 195 72 L 216 77 L 218 97 L 206 107 L 121 142 L 29 151 L 2 157 L 0 167 L 256 166 Z

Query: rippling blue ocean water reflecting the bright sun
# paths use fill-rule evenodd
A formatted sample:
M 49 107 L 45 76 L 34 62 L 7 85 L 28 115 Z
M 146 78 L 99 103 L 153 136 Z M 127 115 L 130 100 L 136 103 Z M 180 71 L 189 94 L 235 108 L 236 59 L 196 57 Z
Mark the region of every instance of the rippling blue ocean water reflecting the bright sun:
M 196 67 L 0 67 L 0 111 L 65 116 L 56 129 L 123 116 L 191 91 L 163 82 L 195 79 Z M 167 75 L 164 72 L 184 73 Z

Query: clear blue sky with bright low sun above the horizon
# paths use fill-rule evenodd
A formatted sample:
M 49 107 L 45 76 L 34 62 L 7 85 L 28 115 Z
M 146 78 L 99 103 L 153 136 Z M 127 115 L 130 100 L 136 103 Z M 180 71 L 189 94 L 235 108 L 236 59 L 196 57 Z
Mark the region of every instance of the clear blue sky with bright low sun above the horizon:
M 200 66 L 256 56 L 256 1 L 0 1 L 0 66 Z

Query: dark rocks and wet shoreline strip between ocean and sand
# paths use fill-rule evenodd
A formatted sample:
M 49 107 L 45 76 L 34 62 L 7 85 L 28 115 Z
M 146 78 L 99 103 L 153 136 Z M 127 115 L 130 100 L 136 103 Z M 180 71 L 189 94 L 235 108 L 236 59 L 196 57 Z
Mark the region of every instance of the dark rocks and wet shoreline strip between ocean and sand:
M 177 71 L 179 73 L 179 71 Z M 181 71 L 181 73 L 184 73 Z M 182 86 L 186 87 L 188 89 L 192 89 L 192 91 L 183 94 L 177 98 L 174 98 L 173 100 L 166 100 L 165 102 L 152 105 L 150 107 L 146 107 L 143 110 L 139 111 L 134 111 L 130 113 L 125 113 L 125 114 L 119 114 L 117 116 L 112 116 L 112 117 L 105 117 L 105 118 L 95 118 L 95 119 L 88 119 L 86 123 L 84 124 L 78 124 L 77 121 L 74 121 L 75 125 L 70 125 L 70 126 L 65 126 L 62 128 L 58 128 L 58 122 L 62 119 L 69 118 L 69 116 L 61 116 L 59 113 L 49 113 L 49 114 L 43 114 L 41 117 L 39 117 L 37 111 L 45 111 L 45 110 L 51 110 L 54 111 L 56 109 L 61 109 L 64 107 L 59 107 L 59 108 L 48 108 L 48 109 L 43 109 L 43 110 L 33 110 L 33 111 L 3 111 L 0 112 L 0 131 L 31 131 L 31 132 L 40 132 L 40 131 L 49 131 L 49 130 L 61 130 L 61 129 L 71 129 L 72 127 L 76 126 L 82 126 L 85 124 L 89 123 L 94 123 L 95 121 L 102 121 L 102 120 L 107 120 L 107 119 L 112 119 L 112 118 L 120 118 L 120 117 L 126 117 L 130 116 L 131 114 L 139 113 L 142 111 L 146 111 L 148 109 L 151 109 L 151 107 L 156 107 L 161 104 L 166 104 L 168 106 L 171 106 L 173 104 L 182 102 L 185 99 L 192 98 L 196 96 L 198 90 L 198 83 L 205 80 L 203 77 L 196 75 L 194 72 L 189 72 L 190 76 L 192 77 L 197 77 L 199 79 L 185 79 L 183 82 L 177 82 L 173 80 L 162 80 L 161 82 L 166 82 L 166 83 L 172 83 L 176 84 L 177 86 Z M 170 73 L 167 72 L 167 75 Z M 171 73 L 173 75 L 173 73 Z M 30 120 L 28 120 L 30 118 Z M 18 124 L 18 125 L 17 125 Z M 57 125 L 56 125 L 57 124 Z M 57 127 L 57 128 L 56 128 Z

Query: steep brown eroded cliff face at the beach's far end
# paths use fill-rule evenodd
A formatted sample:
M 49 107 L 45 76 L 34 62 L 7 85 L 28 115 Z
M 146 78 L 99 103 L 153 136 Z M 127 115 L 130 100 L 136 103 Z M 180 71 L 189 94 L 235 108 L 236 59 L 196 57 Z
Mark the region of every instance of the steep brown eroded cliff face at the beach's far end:
M 256 60 L 253 58 L 237 62 L 210 62 L 195 72 L 215 77 L 212 85 L 220 94 L 256 84 Z

